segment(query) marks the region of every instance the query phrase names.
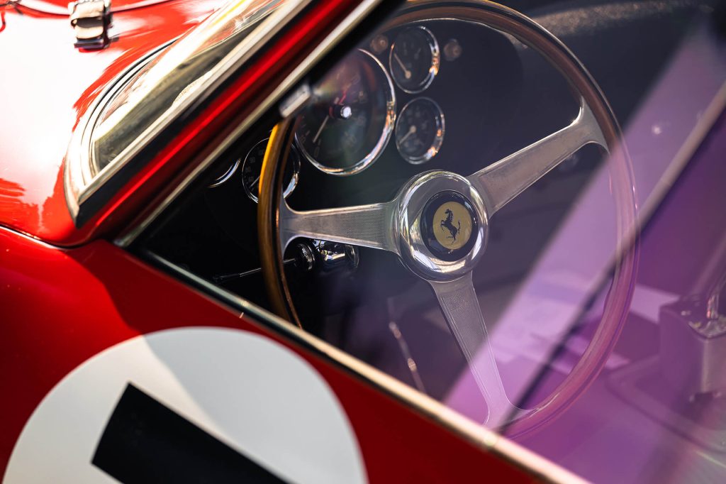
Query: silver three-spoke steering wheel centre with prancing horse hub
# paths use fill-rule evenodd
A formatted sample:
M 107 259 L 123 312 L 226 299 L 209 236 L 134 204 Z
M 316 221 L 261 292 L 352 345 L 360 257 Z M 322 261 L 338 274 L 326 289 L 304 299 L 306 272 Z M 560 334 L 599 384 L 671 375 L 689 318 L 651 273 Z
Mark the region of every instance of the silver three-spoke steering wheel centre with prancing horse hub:
M 521 411 L 510 402 L 494 359 L 472 270 L 486 249 L 489 217 L 584 145 L 608 145 L 592 110 L 580 102 L 558 132 L 470 175 L 424 172 L 393 201 L 296 211 L 280 200 L 283 251 L 306 237 L 391 251 L 433 288 L 457 345 L 486 400 L 484 424 L 497 428 Z

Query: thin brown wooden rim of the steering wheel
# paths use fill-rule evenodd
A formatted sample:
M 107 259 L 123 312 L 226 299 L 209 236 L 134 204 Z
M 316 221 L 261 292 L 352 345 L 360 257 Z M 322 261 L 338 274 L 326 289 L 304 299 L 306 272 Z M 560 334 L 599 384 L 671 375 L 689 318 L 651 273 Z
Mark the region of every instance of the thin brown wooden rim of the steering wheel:
M 608 164 L 616 206 L 617 243 L 613 279 L 605 298 L 603 318 L 582 358 L 558 388 L 537 408 L 500 429 L 509 436 L 517 436 L 541 427 L 571 406 L 600 373 L 619 337 L 628 314 L 637 271 L 638 231 L 632 162 L 622 143 L 616 117 L 590 73 L 561 41 L 528 17 L 489 1 L 409 1 L 401 14 L 385 28 L 442 17 L 488 25 L 497 31 L 509 33 L 523 44 L 536 49 L 560 71 L 571 89 L 590 106 L 610 149 Z M 291 320 L 302 328 L 282 267 L 283 254 L 277 225 L 284 160 L 287 159 L 293 141 L 294 125 L 293 119 L 281 121 L 275 126 L 269 139 L 260 180 L 258 235 L 261 267 L 272 307 L 282 318 Z

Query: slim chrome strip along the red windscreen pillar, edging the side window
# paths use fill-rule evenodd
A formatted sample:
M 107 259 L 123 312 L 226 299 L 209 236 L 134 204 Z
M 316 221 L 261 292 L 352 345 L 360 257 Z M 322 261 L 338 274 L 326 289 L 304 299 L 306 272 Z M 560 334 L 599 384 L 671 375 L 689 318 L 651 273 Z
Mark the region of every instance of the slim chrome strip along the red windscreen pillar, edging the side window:
M 383 0 L 364 0 L 362 1 L 353 12 L 351 12 L 345 20 L 343 20 L 337 27 L 314 49 L 313 52 L 304 59 L 292 73 L 290 73 L 284 81 L 277 86 L 268 97 L 266 97 L 255 110 L 237 126 L 227 138 L 222 141 L 204 160 L 198 164 L 195 169 L 187 175 L 187 177 L 172 191 L 155 209 L 152 213 L 146 217 L 139 225 L 132 227 L 131 230 L 121 234 L 116 238 L 115 243 L 121 247 L 128 247 L 133 243 L 139 235 L 146 230 L 146 228 L 153 222 L 164 210 L 178 197 L 184 190 L 187 189 L 189 184 L 201 172 L 203 172 L 216 158 L 221 156 L 227 148 L 229 148 L 234 141 L 237 140 L 245 131 L 247 131 L 252 124 L 254 124 L 264 113 L 267 112 L 272 106 L 278 102 L 284 94 L 300 82 L 303 76 L 311 70 L 311 68 L 319 62 L 322 57 L 325 57 L 330 52 L 338 41 L 343 39 L 344 36 L 348 35 L 358 25 L 360 20 L 378 7 Z

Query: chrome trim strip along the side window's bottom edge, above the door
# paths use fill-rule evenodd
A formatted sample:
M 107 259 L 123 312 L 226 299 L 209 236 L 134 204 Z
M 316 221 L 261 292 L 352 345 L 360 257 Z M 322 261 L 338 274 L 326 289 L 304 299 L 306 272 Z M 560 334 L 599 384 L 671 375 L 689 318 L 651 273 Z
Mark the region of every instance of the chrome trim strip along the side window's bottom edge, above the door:
M 465 416 L 458 414 L 451 408 L 444 406 L 443 403 L 399 382 L 393 376 L 389 376 L 383 373 L 383 371 L 348 355 L 346 352 L 338 350 L 332 344 L 306 333 L 306 331 L 272 314 L 272 312 L 267 312 L 261 307 L 242 299 L 226 289 L 222 289 L 213 283 L 205 281 L 203 278 L 184 270 L 173 262 L 169 262 L 150 251 L 146 251 L 145 255 L 163 269 L 187 279 L 187 281 L 193 283 L 203 292 L 213 295 L 233 310 L 237 310 L 240 318 L 243 316 L 252 318 L 266 328 L 271 327 L 283 338 L 291 339 L 293 342 L 301 344 L 306 349 L 316 353 L 319 357 L 330 360 L 335 365 L 349 371 L 353 376 L 361 378 L 364 382 L 372 384 L 378 390 L 385 392 L 392 398 L 408 406 L 412 406 L 433 422 L 442 424 L 445 428 L 453 429 L 454 432 L 457 432 L 458 435 L 473 445 L 476 445 L 478 448 L 492 452 L 516 467 L 534 473 L 534 477 L 552 483 L 587 482 L 563 467 L 559 467 L 554 462 L 538 456 L 536 453 L 508 440 L 507 437 L 486 429 L 481 424 L 477 424 Z

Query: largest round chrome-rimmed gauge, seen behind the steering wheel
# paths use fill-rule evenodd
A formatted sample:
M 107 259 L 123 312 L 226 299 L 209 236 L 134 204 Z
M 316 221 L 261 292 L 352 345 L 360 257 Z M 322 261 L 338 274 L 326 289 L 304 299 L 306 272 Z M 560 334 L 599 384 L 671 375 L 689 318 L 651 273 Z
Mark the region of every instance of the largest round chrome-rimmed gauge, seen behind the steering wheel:
M 298 118 L 303 156 L 322 172 L 349 175 L 378 159 L 393 132 L 396 98 L 378 60 L 357 50 L 314 89 Z

